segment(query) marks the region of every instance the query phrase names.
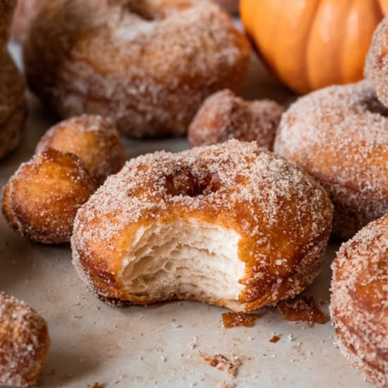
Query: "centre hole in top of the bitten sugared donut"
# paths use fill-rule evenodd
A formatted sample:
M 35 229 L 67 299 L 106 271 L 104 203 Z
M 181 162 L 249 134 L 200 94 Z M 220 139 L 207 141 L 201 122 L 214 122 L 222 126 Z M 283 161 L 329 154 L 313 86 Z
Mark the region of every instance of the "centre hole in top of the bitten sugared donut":
M 166 176 L 167 195 L 198 197 L 199 195 L 210 195 L 219 189 L 217 179 L 207 171 L 201 174 L 193 174 L 188 169 L 181 169 L 176 174 Z

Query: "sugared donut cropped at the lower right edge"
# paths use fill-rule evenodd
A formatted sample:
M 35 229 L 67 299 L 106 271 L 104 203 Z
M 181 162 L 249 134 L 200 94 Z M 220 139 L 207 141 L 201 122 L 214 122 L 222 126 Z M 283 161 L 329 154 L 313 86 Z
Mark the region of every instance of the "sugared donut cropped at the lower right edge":
M 341 245 L 330 312 L 341 353 L 366 380 L 388 387 L 388 214 Z

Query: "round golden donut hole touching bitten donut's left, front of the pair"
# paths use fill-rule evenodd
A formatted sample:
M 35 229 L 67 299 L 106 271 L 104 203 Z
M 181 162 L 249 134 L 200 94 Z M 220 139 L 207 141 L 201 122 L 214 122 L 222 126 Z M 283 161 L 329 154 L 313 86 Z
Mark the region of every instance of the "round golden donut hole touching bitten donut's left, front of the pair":
M 75 213 L 96 188 L 80 158 L 49 148 L 11 176 L 4 187 L 2 210 L 20 236 L 46 244 L 66 243 Z

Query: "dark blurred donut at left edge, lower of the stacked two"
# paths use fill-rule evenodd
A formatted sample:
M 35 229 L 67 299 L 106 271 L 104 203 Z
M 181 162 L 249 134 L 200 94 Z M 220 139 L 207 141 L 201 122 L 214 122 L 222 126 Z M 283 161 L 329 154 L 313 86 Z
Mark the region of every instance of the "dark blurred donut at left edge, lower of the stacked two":
M 0 49 L 0 159 L 20 143 L 25 114 L 23 77 L 8 52 Z

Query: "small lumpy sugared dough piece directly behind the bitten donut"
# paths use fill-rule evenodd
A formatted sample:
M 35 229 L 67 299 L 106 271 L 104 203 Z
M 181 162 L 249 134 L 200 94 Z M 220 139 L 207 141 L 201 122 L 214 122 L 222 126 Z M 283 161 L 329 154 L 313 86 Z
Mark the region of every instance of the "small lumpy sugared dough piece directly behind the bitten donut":
M 207 97 L 188 128 L 193 146 L 212 145 L 229 139 L 256 141 L 272 150 L 284 109 L 277 102 L 262 99 L 248 102 L 222 90 Z

